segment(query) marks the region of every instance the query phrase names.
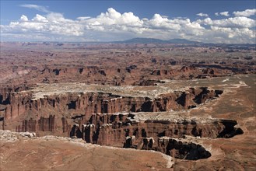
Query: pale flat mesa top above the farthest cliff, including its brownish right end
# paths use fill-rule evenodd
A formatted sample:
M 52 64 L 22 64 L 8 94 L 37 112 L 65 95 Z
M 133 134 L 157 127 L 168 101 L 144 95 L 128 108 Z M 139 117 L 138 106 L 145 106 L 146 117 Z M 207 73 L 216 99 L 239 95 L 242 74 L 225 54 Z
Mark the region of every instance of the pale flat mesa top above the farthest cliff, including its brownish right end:
M 156 98 L 162 94 L 175 91 L 187 91 L 190 87 L 206 86 L 209 89 L 238 88 L 247 86 L 241 77 L 234 75 L 231 77 L 195 79 L 195 80 L 169 80 L 156 86 L 102 86 L 87 85 L 80 82 L 65 82 L 51 84 L 37 84 L 31 90 L 33 100 L 44 98 L 44 96 L 64 95 L 66 93 L 86 93 L 86 92 L 105 92 L 119 96 L 149 97 Z

